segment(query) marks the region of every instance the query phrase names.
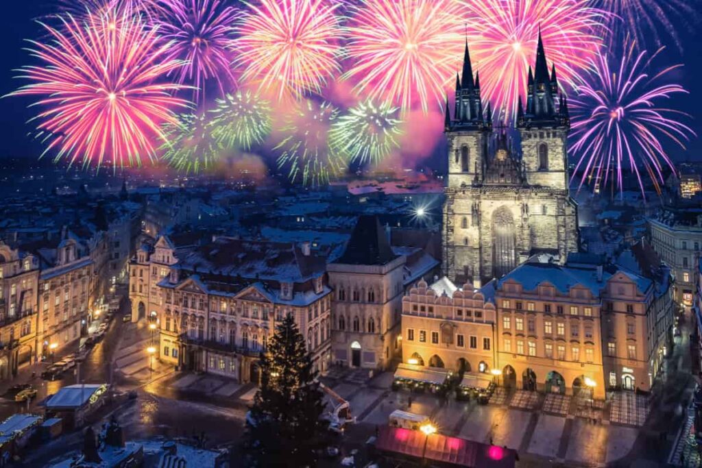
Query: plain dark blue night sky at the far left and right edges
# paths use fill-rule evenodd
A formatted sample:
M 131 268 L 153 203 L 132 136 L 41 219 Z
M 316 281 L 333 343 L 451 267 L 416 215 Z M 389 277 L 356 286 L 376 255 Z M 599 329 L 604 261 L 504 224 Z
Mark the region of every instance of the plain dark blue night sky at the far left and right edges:
M 26 44 L 24 39 L 36 38 L 40 33 L 39 26 L 32 19 L 55 11 L 58 0 L 12 0 L 3 3 L 0 14 L 0 44 L 4 60 L 0 65 L 0 95 L 13 91 L 22 83 L 22 80 L 13 78 L 13 69 L 32 60 L 26 51 L 22 51 Z M 689 32 L 681 27 L 679 35 L 684 44 L 682 55 L 675 46 L 669 46 L 658 64 L 684 64 L 682 69 L 675 72 L 675 79 L 687 88 L 690 94 L 676 97 L 670 102 L 670 107 L 692 114 L 694 119 L 691 121 L 691 127 L 698 135 L 702 135 L 702 32 Z M 665 34 L 663 37 L 665 38 Z M 31 98 L 0 99 L 0 157 L 36 158 L 41 152 L 41 146 L 27 135 L 32 131 L 31 124 L 26 123 L 33 115 L 33 110 L 27 109 L 30 102 Z M 674 146 L 668 146 L 668 149 L 679 161 L 702 161 L 702 139 L 699 137 L 689 142 L 687 152 Z

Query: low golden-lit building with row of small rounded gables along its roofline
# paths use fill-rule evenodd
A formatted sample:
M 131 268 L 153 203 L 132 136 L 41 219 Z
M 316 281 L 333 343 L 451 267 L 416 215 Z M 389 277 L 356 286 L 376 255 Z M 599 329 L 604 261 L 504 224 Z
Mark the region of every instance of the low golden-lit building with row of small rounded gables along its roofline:
M 416 283 L 402 297 L 402 361 L 489 373 L 497 356 L 492 286 L 458 288 L 445 276 Z

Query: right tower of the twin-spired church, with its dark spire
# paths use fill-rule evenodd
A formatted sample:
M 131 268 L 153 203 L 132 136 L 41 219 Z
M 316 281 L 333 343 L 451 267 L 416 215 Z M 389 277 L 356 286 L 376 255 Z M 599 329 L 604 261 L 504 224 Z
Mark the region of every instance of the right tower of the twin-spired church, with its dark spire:
M 517 130 L 522 137 L 522 160 L 529 185 L 567 189 L 567 136 L 570 130 L 567 99 L 558 93 L 556 66 L 548 72 L 541 32 L 534 73 L 529 67 L 527 109 L 519 98 Z

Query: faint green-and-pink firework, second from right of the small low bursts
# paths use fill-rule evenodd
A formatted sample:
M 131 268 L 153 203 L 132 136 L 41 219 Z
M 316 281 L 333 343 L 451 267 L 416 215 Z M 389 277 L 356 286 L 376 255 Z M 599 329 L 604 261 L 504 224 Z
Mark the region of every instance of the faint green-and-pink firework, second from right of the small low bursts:
M 286 137 L 274 147 L 280 152 L 278 168 L 286 168 L 291 182 L 324 185 L 345 171 L 345 163 L 329 145 L 329 129 L 338 109 L 329 102 L 304 100 L 285 116 Z

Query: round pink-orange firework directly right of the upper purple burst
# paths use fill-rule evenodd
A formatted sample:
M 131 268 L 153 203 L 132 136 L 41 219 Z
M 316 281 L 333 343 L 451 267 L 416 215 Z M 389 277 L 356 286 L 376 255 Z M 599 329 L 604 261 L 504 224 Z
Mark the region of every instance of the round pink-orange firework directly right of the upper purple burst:
M 232 47 L 241 79 L 258 90 L 300 98 L 319 93 L 340 70 L 337 62 L 341 32 L 337 4 L 324 0 L 260 0 L 249 3 L 237 27 Z

